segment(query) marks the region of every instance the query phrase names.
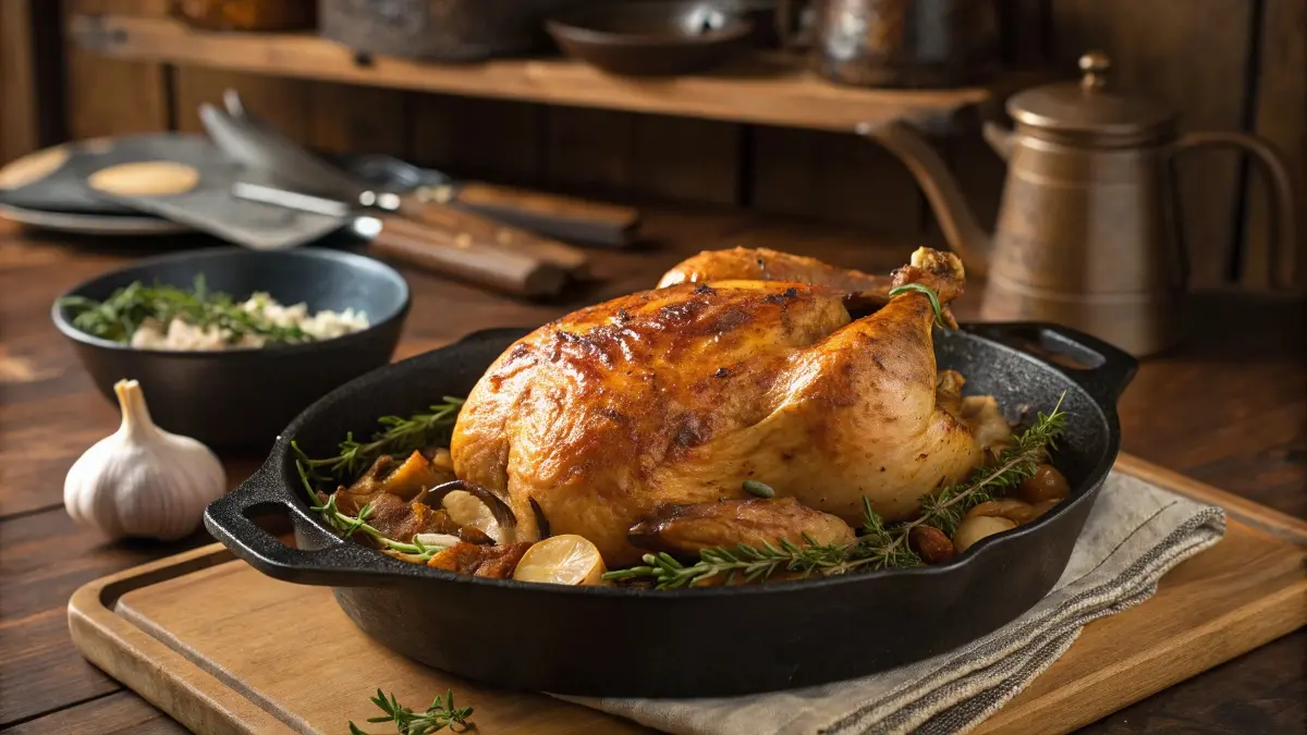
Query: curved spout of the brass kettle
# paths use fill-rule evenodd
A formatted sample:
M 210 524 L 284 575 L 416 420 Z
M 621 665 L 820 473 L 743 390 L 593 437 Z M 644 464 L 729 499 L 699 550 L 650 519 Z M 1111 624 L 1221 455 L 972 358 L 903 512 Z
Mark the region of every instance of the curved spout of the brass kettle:
M 989 271 L 989 235 L 976 224 L 957 179 L 931 144 L 899 122 L 863 123 L 857 126 L 857 133 L 880 143 L 903 161 L 925 192 L 944 238 L 962 258 L 967 275 L 984 277 Z

